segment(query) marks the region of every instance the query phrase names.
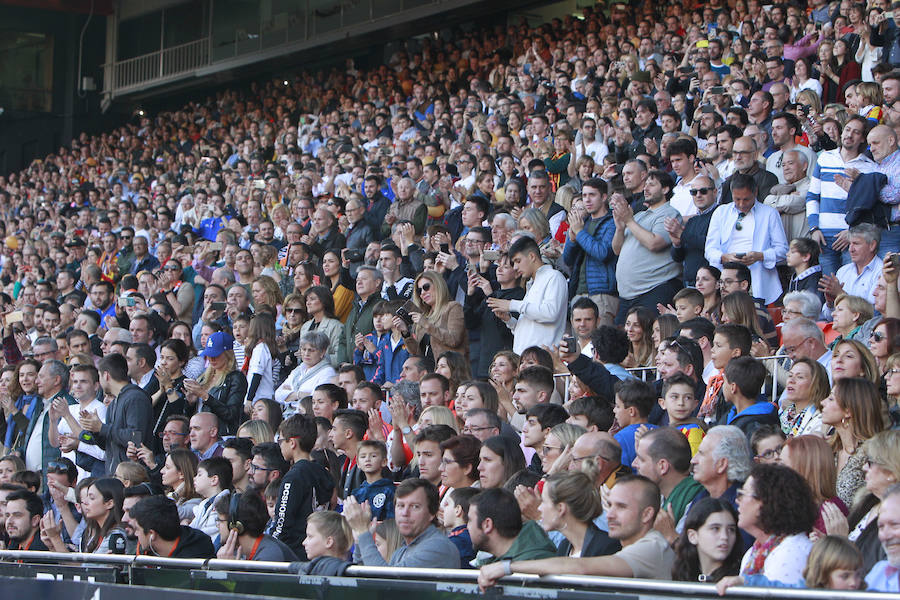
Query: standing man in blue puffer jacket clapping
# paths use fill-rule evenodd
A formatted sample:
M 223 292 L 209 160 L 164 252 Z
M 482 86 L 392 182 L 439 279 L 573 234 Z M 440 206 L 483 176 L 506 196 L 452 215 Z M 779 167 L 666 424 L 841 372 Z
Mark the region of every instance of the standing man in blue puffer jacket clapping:
M 597 305 L 599 324 L 612 325 L 619 310 L 616 292 L 616 254 L 612 240 L 616 224 L 609 211 L 606 182 L 592 178 L 581 186 L 587 219 L 581 211 L 569 214 L 563 260 L 572 269 L 569 295 L 588 295 Z

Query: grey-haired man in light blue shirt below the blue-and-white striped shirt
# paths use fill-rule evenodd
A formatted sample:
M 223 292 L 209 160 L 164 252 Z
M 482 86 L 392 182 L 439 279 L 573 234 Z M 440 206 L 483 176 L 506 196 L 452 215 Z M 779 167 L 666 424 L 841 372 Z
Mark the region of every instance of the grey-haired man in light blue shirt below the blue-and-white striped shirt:
M 825 316 L 831 316 L 834 299 L 841 294 L 859 296 L 875 303 L 875 285 L 884 262 L 878 256 L 881 228 L 872 223 L 860 223 L 850 228 L 850 262 L 834 275 L 822 275 L 819 291 L 825 294 Z

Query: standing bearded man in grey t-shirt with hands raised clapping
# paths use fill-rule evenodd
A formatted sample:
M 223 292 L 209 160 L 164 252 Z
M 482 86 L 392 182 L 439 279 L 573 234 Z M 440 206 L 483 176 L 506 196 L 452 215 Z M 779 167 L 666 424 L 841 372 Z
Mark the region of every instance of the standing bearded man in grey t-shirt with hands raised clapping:
M 681 289 L 681 266 L 669 254 L 672 242 L 665 228 L 667 218 L 681 219 L 669 204 L 674 187 L 675 182 L 668 173 L 655 170 L 644 184 L 647 210 L 634 214 L 619 194 L 610 201 L 616 225 L 613 252 L 627 258 L 616 264 L 620 296 L 617 324 L 625 322 L 631 307 L 656 310 L 657 304 L 671 303 Z

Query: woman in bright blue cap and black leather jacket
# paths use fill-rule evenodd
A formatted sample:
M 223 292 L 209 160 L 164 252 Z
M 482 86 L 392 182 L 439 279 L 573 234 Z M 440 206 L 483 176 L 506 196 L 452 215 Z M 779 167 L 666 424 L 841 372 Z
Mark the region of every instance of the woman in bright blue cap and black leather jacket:
M 197 381 L 184 380 L 188 411 L 195 412 L 197 401 L 202 400 L 203 409 L 219 418 L 219 435 L 223 436 L 237 431 L 247 395 L 247 378 L 237 368 L 233 344 L 234 338 L 224 331 L 209 336 L 201 352 L 209 367 Z

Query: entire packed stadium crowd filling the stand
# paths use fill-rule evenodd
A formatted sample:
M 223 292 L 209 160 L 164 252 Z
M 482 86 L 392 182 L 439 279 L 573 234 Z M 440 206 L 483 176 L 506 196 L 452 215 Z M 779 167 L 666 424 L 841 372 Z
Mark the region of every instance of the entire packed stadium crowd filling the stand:
M 898 591 L 898 26 L 597 5 L 3 177 L 5 547 Z

